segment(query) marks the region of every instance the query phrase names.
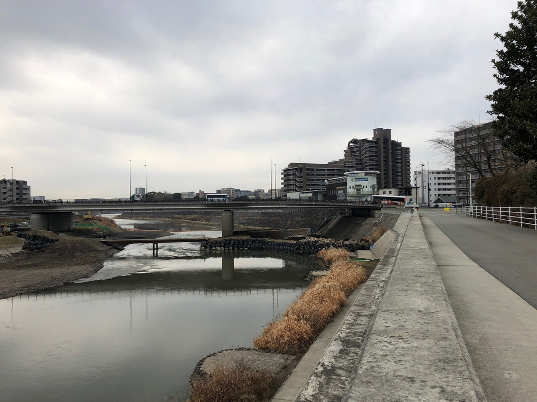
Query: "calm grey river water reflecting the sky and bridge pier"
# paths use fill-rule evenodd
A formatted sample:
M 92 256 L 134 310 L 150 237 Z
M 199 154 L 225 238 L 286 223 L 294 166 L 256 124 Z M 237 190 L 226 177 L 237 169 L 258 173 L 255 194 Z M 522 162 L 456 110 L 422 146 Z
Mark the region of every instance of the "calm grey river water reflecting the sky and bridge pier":
M 121 226 L 220 231 L 171 222 Z M 201 232 L 200 230 L 203 230 Z M 195 364 L 250 346 L 319 266 L 263 250 L 129 245 L 90 278 L 0 300 L 0 401 L 158 401 L 182 396 Z

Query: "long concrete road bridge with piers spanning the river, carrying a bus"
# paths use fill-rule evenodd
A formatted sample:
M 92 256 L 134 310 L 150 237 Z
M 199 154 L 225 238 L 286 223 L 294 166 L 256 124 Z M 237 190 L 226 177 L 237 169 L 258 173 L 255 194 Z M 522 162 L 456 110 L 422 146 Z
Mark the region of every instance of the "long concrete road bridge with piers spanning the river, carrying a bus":
M 28 213 L 32 229 L 53 232 L 68 231 L 74 227 L 74 213 L 81 211 L 100 212 L 144 212 L 144 211 L 222 211 L 222 236 L 233 236 L 233 212 L 240 210 L 281 212 L 284 209 L 331 208 L 342 214 L 359 217 L 372 217 L 380 205 L 360 204 L 336 200 L 252 200 L 248 202 L 193 202 L 177 200 L 158 200 L 156 202 L 135 202 L 102 200 L 50 200 L 39 204 L 0 204 L 0 213 Z

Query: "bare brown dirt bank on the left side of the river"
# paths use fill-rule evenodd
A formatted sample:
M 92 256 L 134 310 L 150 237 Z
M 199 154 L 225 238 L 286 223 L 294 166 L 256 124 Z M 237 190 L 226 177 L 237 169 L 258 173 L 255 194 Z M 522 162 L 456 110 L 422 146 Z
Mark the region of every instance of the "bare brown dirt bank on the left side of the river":
M 60 239 L 44 252 L 18 252 L 20 246 L 0 245 L 0 299 L 55 288 L 95 274 L 104 260 L 118 250 L 95 239 L 71 238 L 47 231 L 32 231 Z

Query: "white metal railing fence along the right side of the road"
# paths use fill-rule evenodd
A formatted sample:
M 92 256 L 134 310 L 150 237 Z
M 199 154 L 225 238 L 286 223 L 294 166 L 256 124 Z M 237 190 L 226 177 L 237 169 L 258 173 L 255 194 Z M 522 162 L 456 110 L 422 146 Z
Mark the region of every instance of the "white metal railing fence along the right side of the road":
M 537 207 L 467 206 L 466 216 L 537 230 Z

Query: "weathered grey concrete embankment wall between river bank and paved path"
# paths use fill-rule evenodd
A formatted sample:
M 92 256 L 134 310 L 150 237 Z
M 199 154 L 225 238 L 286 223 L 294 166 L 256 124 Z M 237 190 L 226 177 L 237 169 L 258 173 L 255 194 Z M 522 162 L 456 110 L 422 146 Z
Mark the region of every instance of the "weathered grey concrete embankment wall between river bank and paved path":
M 381 240 L 382 259 L 328 347 L 274 401 L 485 400 L 418 214 Z M 291 396 L 292 381 L 304 385 Z

